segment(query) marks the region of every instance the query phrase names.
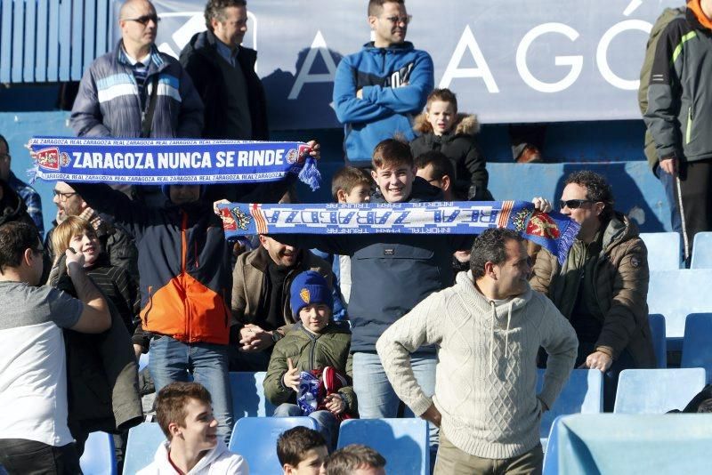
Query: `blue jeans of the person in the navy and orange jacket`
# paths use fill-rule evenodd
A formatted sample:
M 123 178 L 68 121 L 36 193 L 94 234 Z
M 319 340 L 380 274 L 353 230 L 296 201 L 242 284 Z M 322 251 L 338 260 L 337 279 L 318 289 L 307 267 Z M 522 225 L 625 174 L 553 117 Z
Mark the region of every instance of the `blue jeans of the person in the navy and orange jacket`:
M 232 432 L 232 396 L 228 376 L 228 347 L 211 343 L 183 343 L 170 336 L 150 341 L 150 375 L 156 392 L 170 382 L 192 380 L 206 387 L 213 398 L 217 435 L 225 444 Z

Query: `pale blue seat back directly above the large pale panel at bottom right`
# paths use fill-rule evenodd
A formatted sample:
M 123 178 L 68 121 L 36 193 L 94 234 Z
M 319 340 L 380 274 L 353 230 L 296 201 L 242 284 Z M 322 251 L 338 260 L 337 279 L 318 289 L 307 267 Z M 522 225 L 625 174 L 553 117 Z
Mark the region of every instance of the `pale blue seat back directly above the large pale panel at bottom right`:
M 701 367 L 679 369 L 626 369 L 620 372 L 617 414 L 665 414 L 684 409 L 705 387 Z

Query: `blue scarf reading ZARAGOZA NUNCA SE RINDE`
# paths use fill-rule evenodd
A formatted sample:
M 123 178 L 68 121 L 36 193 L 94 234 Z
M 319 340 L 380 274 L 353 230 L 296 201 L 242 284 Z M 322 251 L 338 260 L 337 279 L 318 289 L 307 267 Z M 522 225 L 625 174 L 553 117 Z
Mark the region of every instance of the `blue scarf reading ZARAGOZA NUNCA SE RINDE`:
M 312 189 L 321 176 L 303 142 L 33 137 L 31 181 L 136 185 L 279 181 L 295 173 Z

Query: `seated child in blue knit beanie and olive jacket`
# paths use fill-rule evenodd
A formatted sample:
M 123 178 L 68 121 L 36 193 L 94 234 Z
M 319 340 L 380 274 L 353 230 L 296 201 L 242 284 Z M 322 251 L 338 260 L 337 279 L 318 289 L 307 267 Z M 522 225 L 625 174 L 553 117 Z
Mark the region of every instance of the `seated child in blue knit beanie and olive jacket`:
M 351 331 L 334 322 L 332 292 L 318 272 L 296 276 L 289 294 L 300 321 L 272 350 L 264 394 L 275 416 L 309 415 L 334 447 L 339 423 L 356 413 Z

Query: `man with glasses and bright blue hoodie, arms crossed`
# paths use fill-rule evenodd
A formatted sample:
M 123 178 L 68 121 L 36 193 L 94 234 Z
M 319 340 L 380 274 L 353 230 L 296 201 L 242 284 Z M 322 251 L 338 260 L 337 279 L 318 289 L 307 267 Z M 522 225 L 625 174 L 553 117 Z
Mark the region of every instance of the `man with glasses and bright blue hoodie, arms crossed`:
M 368 167 L 376 144 L 394 135 L 415 138 L 412 117 L 433 90 L 433 59 L 405 41 L 411 17 L 404 0 L 370 0 L 374 41 L 339 63 L 336 117 L 344 124 L 346 162 Z

